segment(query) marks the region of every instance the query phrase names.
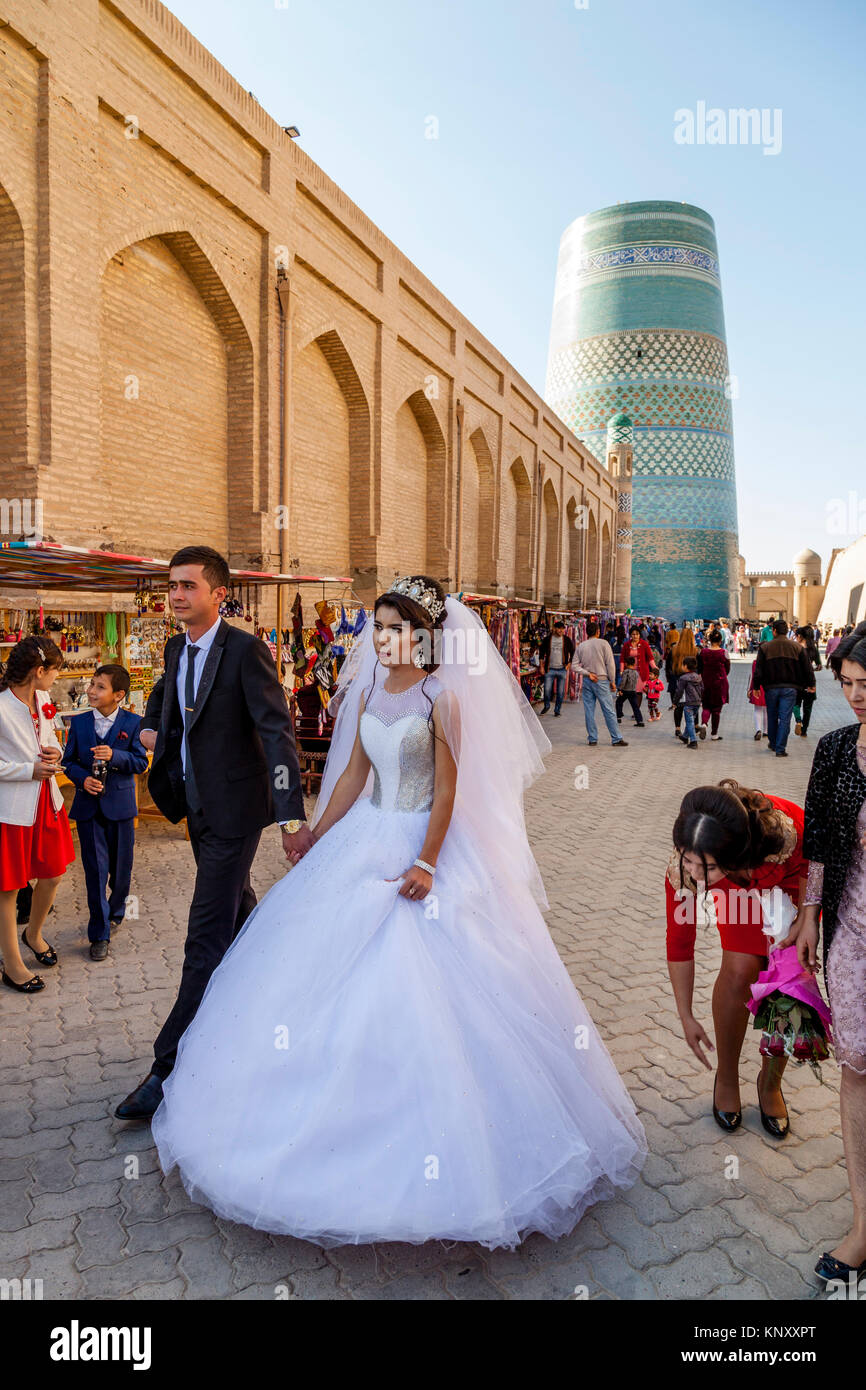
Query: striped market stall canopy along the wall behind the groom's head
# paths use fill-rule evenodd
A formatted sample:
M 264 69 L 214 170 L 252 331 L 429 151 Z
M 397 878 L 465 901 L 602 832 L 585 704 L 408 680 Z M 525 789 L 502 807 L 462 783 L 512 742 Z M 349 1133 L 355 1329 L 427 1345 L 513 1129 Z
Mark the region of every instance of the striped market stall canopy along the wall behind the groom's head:
M 235 584 L 350 584 L 334 574 L 271 574 L 268 570 L 232 570 Z M 86 550 L 54 541 L 0 542 L 0 585 L 10 588 L 86 589 L 100 594 L 133 594 L 168 580 L 168 560 L 114 550 Z

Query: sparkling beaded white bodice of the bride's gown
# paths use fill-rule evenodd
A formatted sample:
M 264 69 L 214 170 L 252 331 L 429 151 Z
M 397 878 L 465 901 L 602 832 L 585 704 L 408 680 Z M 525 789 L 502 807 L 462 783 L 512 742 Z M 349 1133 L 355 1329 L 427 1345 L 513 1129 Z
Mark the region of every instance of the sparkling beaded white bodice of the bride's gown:
M 407 691 L 389 694 L 384 681 L 367 696 L 361 714 L 361 745 L 373 763 L 373 795 L 379 810 L 430 810 L 434 794 L 435 745 L 432 702 L 442 692 L 435 676 Z

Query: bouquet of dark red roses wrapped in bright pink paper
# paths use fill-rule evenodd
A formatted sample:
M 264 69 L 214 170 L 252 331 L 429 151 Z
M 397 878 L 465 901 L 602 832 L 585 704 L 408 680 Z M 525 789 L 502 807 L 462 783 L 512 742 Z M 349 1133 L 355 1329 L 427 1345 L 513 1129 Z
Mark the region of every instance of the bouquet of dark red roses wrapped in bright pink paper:
M 830 1009 L 817 980 L 796 959 L 796 945 L 773 951 L 751 990 L 746 1008 L 763 1034 L 762 1056 L 790 1056 L 801 1066 L 808 1062 L 823 1081 L 820 1063 L 833 1045 Z

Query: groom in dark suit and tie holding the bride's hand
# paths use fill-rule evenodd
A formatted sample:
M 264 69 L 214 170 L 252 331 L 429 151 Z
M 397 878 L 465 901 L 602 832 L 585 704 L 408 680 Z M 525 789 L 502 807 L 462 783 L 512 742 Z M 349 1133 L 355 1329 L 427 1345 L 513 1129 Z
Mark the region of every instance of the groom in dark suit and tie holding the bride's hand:
M 227 562 L 209 546 L 185 546 L 170 562 L 168 596 L 186 634 L 165 644 L 140 739 L 153 751 L 150 795 L 168 820 L 186 816 L 197 872 L 181 988 L 150 1074 L 117 1106 L 120 1119 L 149 1119 L 163 1098 L 178 1041 L 256 906 L 250 867 L 263 828 L 279 823 L 292 862 L 313 844 L 274 662 L 264 642 L 220 617 L 229 582 Z

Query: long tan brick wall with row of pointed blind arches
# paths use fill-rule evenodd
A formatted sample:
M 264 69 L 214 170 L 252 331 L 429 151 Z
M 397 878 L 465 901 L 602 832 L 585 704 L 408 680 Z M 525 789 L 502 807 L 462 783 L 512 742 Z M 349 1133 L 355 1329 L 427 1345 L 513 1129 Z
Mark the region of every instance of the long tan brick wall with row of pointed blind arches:
M 4 495 L 75 545 L 574 598 L 607 473 L 175 17 L 4 13 Z

